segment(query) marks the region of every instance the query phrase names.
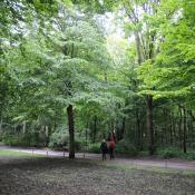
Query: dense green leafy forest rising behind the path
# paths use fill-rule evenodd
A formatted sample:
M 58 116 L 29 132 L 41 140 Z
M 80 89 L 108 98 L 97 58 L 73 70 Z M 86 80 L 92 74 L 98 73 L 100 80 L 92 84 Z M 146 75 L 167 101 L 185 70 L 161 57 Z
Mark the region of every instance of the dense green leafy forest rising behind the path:
M 195 159 L 194 0 L 0 7 L 0 142 Z

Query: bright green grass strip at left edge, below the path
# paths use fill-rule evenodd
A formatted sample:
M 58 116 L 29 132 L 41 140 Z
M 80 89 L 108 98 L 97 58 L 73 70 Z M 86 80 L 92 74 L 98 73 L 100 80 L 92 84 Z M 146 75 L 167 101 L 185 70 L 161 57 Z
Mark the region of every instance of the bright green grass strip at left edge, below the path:
M 43 155 L 17 152 L 14 149 L 0 149 L 0 157 L 9 157 L 9 158 L 28 158 L 28 157 L 42 157 Z

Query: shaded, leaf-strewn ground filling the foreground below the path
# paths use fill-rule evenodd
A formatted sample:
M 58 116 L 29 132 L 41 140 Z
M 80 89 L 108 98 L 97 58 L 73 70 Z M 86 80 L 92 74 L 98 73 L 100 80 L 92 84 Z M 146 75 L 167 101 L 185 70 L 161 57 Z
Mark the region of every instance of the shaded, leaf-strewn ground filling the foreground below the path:
M 0 156 L 0 195 L 195 194 L 195 169 L 138 166 L 127 164 L 127 159 L 101 162 L 96 157 Z

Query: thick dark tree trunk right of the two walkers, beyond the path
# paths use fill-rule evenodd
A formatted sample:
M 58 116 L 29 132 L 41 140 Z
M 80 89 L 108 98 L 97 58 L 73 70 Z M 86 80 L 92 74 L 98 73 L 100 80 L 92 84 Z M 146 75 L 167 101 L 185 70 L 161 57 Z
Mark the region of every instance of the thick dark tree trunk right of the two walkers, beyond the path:
M 149 155 L 154 154 L 154 129 L 153 129 L 153 97 L 146 96 L 146 115 L 147 115 L 147 137 Z

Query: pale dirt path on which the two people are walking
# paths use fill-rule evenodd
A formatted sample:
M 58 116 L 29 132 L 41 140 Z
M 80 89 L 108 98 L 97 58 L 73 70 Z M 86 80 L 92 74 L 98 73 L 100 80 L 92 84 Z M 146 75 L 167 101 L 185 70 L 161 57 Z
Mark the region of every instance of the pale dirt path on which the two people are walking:
M 23 152 L 30 154 L 40 154 L 49 157 L 68 157 L 68 153 L 64 152 L 53 152 L 50 149 L 37 149 L 37 148 L 20 148 L 20 147 L 10 147 L 10 146 L 0 146 L 0 149 L 11 149 L 16 152 Z M 77 153 L 76 158 L 85 158 L 89 160 L 101 162 L 100 154 L 84 154 Z M 110 164 L 121 164 L 121 165 L 131 165 L 131 166 L 145 166 L 145 167 L 160 167 L 160 168 L 175 168 L 175 169 L 188 169 L 195 170 L 195 160 L 178 160 L 178 159 L 138 159 L 138 158 L 121 158 L 117 157 L 115 160 L 107 159 Z

